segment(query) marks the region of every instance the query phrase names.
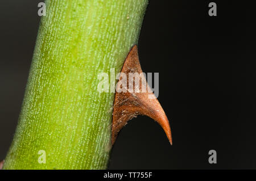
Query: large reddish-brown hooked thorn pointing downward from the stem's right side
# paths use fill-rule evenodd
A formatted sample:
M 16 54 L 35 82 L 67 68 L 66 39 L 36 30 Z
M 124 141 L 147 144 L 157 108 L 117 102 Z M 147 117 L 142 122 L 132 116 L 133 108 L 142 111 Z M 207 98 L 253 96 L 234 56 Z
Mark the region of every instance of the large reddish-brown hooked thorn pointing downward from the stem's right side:
M 122 73 L 125 73 L 122 75 Z M 133 74 L 135 81 L 130 82 L 129 73 Z M 137 45 L 130 50 L 121 70 L 121 75 L 117 83 L 115 92 L 114 110 L 112 119 L 112 145 L 114 144 L 118 132 L 127 124 L 127 121 L 138 115 L 146 115 L 157 121 L 163 128 L 170 144 L 172 145 L 171 128 L 162 106 L 156 99 L 154 93 L 147 84 L 146 78 L 142 74 L 141 81 L 138 77 L 143 73 L 139 63 Z M 126 75 L 126 76 L 125 76 Z M 134 85 L 131 90 L 130 85 Z M 146 87 L 146 91 L 143 88 Z M 135 88 L 135 89 L 134 89 Z

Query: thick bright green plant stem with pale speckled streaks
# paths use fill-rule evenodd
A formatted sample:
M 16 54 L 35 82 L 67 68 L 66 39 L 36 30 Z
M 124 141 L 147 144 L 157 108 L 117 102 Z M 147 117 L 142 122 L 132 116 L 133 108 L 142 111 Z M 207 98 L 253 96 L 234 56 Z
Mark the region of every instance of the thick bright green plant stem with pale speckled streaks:
M 47 0 L 14 141 L 3 169 L 106 169 L 118 73 L 137 44 L 147 0 Z M 40 163 L 39 150 L 46 153 Z

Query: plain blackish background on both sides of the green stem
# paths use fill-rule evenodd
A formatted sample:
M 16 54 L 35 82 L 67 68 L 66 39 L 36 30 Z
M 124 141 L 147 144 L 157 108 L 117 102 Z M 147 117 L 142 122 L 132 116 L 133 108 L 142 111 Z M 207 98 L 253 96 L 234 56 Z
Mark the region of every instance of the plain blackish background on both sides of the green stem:
M 23 100 L 39 2 L 0 2 L 0 159 Z M 217 17 L 208 15 L 209 2 Z M 253 1 L 150 1 L 139 56 L 145 73 L 159 72 L 174 145 L 155 121 L 137 117 L 119 134 L 109 169 L 256 168 L 255 22 Z

